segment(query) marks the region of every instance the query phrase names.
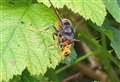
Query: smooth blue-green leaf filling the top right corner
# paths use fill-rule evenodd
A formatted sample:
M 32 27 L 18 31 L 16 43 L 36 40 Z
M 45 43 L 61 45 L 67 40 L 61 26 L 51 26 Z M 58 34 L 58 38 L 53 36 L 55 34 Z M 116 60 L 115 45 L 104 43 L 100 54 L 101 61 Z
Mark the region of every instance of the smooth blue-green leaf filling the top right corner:
M 120 23 L 120 5 L 117 0 L 103 0 L 109 13 Z

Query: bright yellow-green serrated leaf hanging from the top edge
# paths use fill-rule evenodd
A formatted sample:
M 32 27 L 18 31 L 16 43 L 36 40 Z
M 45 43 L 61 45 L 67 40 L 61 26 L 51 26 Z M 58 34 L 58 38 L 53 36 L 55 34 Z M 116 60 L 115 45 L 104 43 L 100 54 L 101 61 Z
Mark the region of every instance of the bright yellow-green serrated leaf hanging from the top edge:
M 38 2 L 43 2 L 48 7 L 50 6 L 48 0 L 38 0 Z M 57 8 L 62 8 L 66 5 L 73 12 L 79 13 L 86 20 L 90 19 L 99 26 L 102 25 L 106 16 L 105 5 L 102 0 L 51 0 L 51 2 Z

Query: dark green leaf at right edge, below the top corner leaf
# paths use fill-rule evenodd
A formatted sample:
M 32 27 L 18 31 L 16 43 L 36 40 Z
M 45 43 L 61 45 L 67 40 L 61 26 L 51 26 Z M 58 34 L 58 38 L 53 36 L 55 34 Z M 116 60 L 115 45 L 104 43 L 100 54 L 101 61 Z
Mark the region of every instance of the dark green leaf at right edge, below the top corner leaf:
M 120 31 L 111 26 L 104 26 L 101 30 L 111 40 L 111 46 L 120 59 Z

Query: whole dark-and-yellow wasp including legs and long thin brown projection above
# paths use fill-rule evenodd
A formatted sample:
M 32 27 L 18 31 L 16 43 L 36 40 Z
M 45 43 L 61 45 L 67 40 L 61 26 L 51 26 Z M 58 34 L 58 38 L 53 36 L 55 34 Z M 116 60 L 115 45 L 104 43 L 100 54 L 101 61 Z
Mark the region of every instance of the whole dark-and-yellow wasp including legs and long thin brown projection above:
M 62 51 L 62 56 L 63 57 L 69 56 L 71 54 L 71 47 L 74 45 L 74 42 L 79 40 L 74 39 L 74 30 L 73 30 L 72 22 L 66 18 L 61 19 L 50 0 L 49 2 L 59 19 L 57 21 L 56 26 L 54 25 L 51 26 L 55 30 L 55 32 L 53 33 L 53 39 L 55 40 L 55 36 L 57 37 L 58 46 Z M 48 29 L 49 27 L 44 30 L 48 30 Z M 35 29 L 29 29 L 29 30 L 35 31 Z

